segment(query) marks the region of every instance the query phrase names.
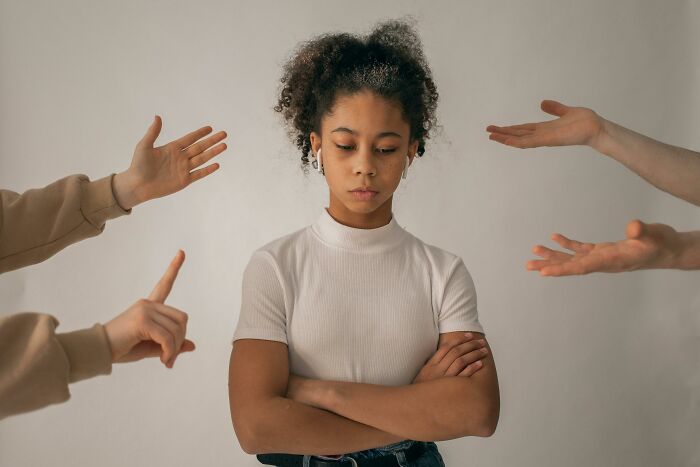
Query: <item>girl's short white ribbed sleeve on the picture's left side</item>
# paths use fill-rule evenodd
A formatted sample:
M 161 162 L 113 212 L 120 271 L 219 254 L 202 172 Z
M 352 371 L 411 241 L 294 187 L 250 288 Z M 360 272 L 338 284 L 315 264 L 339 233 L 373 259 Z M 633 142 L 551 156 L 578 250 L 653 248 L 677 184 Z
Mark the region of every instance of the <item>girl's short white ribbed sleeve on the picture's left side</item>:
M 256 251 L 243 273 L 241 310 L 233 340 L 287 343 L 284 289 L 272 256 Z

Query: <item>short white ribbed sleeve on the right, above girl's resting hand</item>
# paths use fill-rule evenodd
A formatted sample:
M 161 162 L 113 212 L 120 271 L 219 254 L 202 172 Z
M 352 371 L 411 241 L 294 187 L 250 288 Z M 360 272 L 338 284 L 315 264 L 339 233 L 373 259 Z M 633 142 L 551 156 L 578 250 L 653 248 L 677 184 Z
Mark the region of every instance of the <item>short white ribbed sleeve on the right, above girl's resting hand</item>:
M 476 308 L 476 289 L 467 267 L 458 258 L 445 281 L 438 313 L 440 334 L 454 331 L 484 332 Z

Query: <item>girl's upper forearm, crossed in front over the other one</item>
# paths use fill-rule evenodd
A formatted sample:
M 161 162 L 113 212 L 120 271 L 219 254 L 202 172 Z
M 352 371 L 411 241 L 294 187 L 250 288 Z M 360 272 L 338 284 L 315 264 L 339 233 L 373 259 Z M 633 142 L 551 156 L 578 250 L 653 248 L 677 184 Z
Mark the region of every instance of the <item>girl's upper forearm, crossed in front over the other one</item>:
M 320 380 L 300 384 L 302 402 L 405 439 L 490 436 L 498 422 L 497 384 L 484 386 L 466 377 L 398 387 Z

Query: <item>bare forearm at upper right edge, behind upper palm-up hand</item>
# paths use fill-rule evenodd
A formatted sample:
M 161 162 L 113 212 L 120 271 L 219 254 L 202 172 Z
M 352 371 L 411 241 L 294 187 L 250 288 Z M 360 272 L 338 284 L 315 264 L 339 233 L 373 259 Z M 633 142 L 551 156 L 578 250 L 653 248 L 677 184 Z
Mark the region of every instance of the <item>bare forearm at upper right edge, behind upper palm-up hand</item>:
M 605 119 L 591 145 L 660 190 L 700 206 L 700 153 L 656 141 Z

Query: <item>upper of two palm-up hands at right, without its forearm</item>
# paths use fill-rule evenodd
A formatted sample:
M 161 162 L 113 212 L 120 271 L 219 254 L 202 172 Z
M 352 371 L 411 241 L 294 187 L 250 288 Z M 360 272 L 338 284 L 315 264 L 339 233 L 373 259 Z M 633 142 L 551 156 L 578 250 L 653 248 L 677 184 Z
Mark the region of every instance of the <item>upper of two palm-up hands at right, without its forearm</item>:
M 516 148 L 589 145 L 596 147 L 603 131 L 603 118 L 585 107 L 569 107 L 542 101 L 541 108 L 559 118 L 548 122 L 500 127 L 489 125 L 489 139 Z

